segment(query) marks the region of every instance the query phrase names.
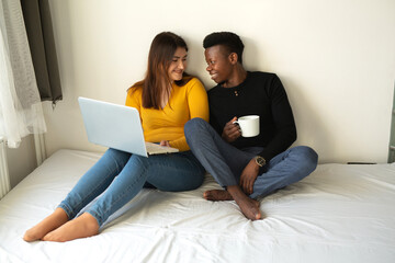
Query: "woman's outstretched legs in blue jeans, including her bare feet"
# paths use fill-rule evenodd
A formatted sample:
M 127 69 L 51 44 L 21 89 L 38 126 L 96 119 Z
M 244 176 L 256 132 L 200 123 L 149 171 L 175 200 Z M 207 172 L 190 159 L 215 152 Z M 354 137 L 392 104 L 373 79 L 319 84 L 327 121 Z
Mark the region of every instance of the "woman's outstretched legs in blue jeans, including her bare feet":
M 177 192 L 196 188 L 203 179 L 204 169 L 191 152 L 148 159 L 110 149 L 81 178 L 59 207 L 29 229 L 23 239 L 64 242 L 98 235 L 109 216 L 131 201 L 146 182 L 162 191 Z M 103 195 L 94 204 L 76 217 L 101 193 Z

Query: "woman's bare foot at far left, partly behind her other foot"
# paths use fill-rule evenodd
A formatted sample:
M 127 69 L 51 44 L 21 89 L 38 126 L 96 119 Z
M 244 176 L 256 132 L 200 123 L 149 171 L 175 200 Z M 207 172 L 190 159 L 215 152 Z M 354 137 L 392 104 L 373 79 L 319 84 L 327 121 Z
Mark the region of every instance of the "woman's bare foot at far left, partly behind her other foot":
M 29 229 L 23 236 L 23 240 L 32 242 L 42 239 L 52 230 L 60 227 L 68 221 L 66 211 L 61 208 L 56 208 L 53 214 L 44 218 L 41 222 Z

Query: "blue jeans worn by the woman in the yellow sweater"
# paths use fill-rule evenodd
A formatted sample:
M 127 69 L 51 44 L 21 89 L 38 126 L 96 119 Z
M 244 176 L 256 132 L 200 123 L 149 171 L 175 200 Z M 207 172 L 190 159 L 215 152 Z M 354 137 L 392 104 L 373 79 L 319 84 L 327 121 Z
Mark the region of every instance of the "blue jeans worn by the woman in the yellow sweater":
M 191 151 L 146 158 L 109 149 L 83 174 L 59 207 L 72 219 L 104 192 L 86 210 L 102 226 L 144 186 L 169 192 L 194 190 L 202 185 L 204 173 L 204 168 Z

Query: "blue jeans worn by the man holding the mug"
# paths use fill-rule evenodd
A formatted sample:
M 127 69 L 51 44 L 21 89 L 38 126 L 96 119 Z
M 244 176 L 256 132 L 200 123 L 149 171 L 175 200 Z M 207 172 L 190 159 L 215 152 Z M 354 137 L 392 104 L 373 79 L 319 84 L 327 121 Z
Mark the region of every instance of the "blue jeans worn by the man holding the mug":
M 237 149 L 202 118 L 189 121 L 184 133 L 192 152 L 223 187 L 237 185 L 245 167 L 263 149 Z M 317 161 L 317 153 L 309 147 L 298 146 L 285 150 L 260 169 L 250 197 L 267 196 L 304 179 L 316 169 Z

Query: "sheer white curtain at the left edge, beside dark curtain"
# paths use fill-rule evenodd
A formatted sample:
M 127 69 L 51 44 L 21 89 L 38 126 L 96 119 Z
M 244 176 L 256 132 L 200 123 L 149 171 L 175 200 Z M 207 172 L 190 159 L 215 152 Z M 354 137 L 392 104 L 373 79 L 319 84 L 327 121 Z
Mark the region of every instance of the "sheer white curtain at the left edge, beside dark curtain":
M 0 0 L 0 137 L 18 148 L 46 132 L 20 0 Z

